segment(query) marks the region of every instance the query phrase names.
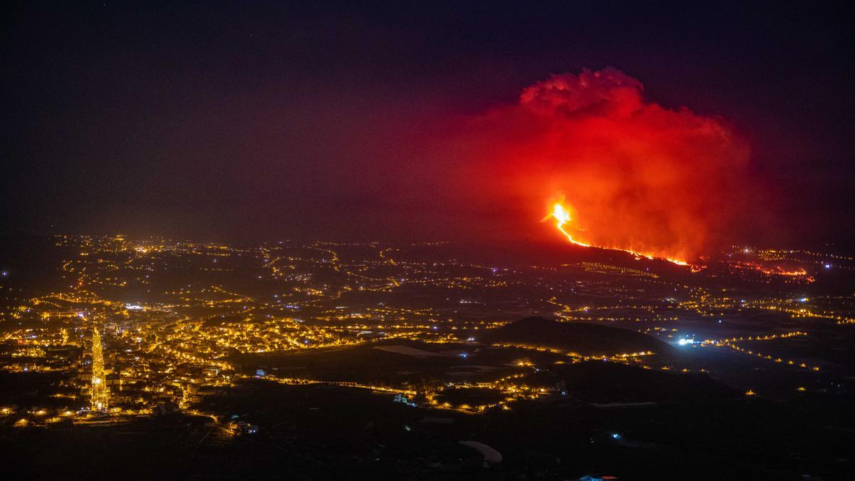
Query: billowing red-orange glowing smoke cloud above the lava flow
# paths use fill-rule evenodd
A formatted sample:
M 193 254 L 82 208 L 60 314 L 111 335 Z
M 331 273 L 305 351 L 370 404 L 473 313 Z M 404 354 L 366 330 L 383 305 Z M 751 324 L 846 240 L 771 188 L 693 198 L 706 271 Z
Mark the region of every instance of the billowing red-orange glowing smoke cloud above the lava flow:
M 459 168 L 469 195 L 533 222 L 563 199 L 574 237 L 593 246 L 691 260 L 732 241 L 757 187 L 746 141 L 643 88 L 613 68 L 557 74 L 477 117 Z

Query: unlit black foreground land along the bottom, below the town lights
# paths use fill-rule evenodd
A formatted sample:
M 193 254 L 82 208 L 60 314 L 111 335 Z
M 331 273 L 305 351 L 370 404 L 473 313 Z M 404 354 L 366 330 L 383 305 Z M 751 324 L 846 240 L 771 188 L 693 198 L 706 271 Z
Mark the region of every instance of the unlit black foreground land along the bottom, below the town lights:
M 481 415 L 410 407 L 368 389 L 248 379 L 201 403 L 213 415 L 4 427 L 0 477 L 839 479 L 852 468 L 855 431 L 827 425 L 827 413 L 734 395 L 709 380 L 657 371 L 638 378 L 624 365 L 569 369 L 545 375 L 578 377 L 567 395 Z M 230 429 L 241 420 L 257 432 Z M 483 442 L 503 461 L 486 463 L 461 440 Z

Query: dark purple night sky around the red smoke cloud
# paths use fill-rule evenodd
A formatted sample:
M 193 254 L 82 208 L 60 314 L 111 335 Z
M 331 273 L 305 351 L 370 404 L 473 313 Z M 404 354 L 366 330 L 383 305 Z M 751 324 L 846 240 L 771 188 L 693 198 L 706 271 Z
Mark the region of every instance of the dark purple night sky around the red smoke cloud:
M 528 169 L 493 169 L 479 126 L 516 125 L 501 112 L 551 74 L 610 67 L 745 141 L 722 188 L 749 201 L 704 206 L 747 215 L 707 230 L 845 250 L 855 42 L 836 4 L 4 3 L 4 229 L 522 238 L 544 229 L 525 195 L 468 197 Z

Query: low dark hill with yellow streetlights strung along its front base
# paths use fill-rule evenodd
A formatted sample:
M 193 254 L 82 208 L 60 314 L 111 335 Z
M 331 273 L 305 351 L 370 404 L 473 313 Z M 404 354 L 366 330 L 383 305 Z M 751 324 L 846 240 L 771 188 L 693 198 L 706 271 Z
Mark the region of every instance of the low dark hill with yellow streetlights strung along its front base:
M 652 351 L 672 355 L 675 349 L 663 341 L 633 330 L 600 324 L 561 323 L 545 318 L 524 318 L 481 336 L 481 341 L 550 347 L 584 355 Z

